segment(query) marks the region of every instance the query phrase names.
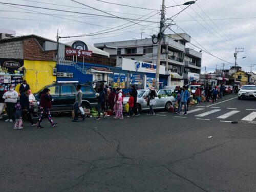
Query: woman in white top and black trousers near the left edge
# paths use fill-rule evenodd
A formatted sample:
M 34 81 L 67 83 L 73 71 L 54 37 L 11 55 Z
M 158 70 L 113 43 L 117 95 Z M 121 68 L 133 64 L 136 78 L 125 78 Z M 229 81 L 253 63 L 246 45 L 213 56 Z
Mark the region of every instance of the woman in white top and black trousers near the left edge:
M 8 113 L 8 119 L 6 122 L 10 121 L 12 122 L 14 119 L 14 109 L 15 104 L 17 103 L 18 93 L 14 91 L 13 86 L 9 87 L 9 91 L 7 91 L 3 95 L 3 99 L 5 99 L 7 113 Z

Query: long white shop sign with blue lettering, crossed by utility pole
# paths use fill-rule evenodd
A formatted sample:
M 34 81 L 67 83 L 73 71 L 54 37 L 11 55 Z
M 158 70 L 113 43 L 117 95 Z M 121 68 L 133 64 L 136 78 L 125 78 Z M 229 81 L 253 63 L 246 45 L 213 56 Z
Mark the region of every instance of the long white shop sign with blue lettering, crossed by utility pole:
M 132 59 L 122 59 L 122 70 L 137 71 L 142 73 L 156 73 L 157 65 L 154 63 L 148 63 L 143 61 L 137 61 Z M 160 66 L 160 74 L 165 74 L 165 67 Z

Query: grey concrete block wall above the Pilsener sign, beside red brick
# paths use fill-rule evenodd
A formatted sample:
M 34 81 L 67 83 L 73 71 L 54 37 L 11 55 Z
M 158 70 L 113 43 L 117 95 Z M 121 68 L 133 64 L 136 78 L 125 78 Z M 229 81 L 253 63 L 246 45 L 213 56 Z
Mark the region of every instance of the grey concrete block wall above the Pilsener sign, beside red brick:
M 0 43 L 0 57 L 23 59 L 23 41 Z

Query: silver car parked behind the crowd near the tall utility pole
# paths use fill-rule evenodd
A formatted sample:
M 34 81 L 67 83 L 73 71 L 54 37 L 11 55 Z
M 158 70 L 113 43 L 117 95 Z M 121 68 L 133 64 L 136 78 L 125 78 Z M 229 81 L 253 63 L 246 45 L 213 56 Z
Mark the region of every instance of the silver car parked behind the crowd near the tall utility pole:
M 146 96 L 150 90 L 137 90 L 137 108 L 139 111 L 149 110 L 150 106 L 147 106 Z M 161 89 L 157 92 L 158 97 L 156 97 L 157 104 L 154 105 L 154 109 L 168 109 L 170 105 L 174 105 L 176 99 L 174 96 L 170 96 L 172 94 L 172 89 Z M 128 102 L 129 97 L 123 98 L 123 104 L 125 105 Z

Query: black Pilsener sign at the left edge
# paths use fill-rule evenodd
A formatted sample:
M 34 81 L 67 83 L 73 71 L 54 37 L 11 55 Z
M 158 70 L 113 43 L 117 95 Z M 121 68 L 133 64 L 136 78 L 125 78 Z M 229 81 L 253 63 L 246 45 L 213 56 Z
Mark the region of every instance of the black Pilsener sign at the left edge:
M 14 74 L 24 66 L 24 60 L 23 59 L 7 59 L 7 58 L 0 58 L 0 73 L 9 73 Z M 22 70 L 20 70 L 22 72 Z

